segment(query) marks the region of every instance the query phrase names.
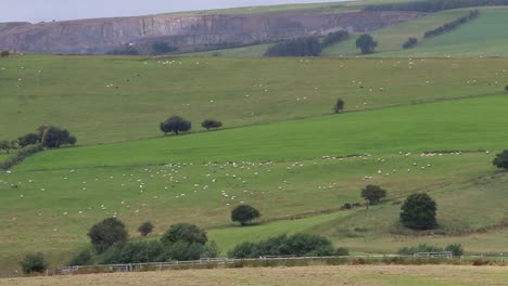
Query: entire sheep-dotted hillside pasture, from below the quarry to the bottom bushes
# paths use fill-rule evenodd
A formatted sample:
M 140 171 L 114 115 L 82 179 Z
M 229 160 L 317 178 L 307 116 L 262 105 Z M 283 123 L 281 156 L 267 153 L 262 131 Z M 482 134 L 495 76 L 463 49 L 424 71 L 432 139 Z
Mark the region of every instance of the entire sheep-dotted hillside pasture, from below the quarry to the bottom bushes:
M 419 242 L 503 247 L 508 179 L 492 159 L 506 147 L 505 60 L 28 55 L 0 63 L 10 91 L 0 99 L 5 139 L 53 122 L 87 145 L 43 152 L 0 173 L 3 274 L 29 251 L 65 263 L 110 216 L 131 237 L 145 220 L 156 226 L 153 237 L 176 222 L 196 223 L 223 255 L 243 240 L 297 231 L 352 252 Z M 122 78 L 118 89 L 106 88 Z M 338 96 L 346 113 L 329 115 Z M 250 108 L 262 116 L 245 117 Z M 157 122 L 175 113 L 237 128 L 163 138 Z M 389 191 L 385 204 L 339 211 L 363 203 L 370 183 Z M 401 202 L 422 191 L 440 206 L 432 235 L 397 224 Z M 259 225 L 230 222 L 242 203 L 262 211 Z

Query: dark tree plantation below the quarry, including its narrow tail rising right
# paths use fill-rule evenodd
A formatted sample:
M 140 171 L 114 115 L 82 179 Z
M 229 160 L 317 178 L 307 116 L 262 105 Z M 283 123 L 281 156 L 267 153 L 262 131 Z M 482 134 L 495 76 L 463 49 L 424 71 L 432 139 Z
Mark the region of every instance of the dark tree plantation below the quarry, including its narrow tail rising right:
M 346 30 L 328 34 L 322 41 L 318 37 L 305 37 L 276 43 L 268 48 L 265 56 L 318 56 L 322 49 L 350 38 Z

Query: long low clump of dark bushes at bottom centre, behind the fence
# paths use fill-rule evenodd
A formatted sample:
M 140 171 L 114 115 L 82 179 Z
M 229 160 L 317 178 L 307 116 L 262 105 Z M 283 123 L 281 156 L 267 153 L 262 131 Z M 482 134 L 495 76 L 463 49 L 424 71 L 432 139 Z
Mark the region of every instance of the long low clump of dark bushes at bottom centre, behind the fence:
M 257 258 L 261 256 L 333 256 L 347 255 L 344 248 L 333 249 L 331 242 L 320 235 L 297 233 L 280 235 L 259 243 L 242 243 L 229 251 L 232 258 Z

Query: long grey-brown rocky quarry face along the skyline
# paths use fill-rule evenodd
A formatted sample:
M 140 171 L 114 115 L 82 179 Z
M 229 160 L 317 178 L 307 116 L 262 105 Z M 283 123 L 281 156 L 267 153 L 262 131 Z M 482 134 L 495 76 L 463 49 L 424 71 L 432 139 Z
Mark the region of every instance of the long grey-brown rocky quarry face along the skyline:
M 20 25 L 0 29 L 0 50 L 100 54 L 165 41 L 180 50 L 277 41 L 345 29 L 365 32 L 423 16 L 414 12 L 152 15 Z

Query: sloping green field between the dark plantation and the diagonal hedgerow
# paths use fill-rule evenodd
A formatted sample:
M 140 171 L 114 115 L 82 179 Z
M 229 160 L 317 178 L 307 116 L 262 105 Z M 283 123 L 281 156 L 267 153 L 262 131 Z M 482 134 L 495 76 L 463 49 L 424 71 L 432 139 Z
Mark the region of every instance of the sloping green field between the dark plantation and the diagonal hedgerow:
M 370 35 L 378 41 L 376 51 L 379 53 L 402 50 L 404 42 L 410 38 L 417 38 L 419 41 L 423 39 L 423 34 L 427 30 L 437 28 L 439 26 L 449 23 L 454 20 L 462 17 L 469 13 L 469 10 L 450 10 L 444 11 L 429 16 L 420 17 L 414 21 L 405 22 L 392 27 L 382 28 L 371 32 Z M 360 55 L 356 48 L 356 40 L 359 36 L 351 37 L 351 39 L 328 47 L 322 52 L 325 56 L 354 56 Z M 379 55 L 378 53 L 374 54 Z

